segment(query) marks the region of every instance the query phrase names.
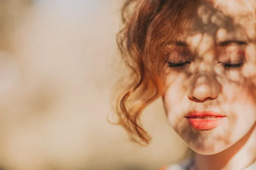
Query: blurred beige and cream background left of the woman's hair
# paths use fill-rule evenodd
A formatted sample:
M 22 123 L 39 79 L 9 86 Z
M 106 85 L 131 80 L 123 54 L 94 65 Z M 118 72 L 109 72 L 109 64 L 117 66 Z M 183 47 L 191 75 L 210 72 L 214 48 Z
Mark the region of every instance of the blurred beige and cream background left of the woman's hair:
M 0 165 L 5 170 L 157 170 L 186 153 L 161 99 L 143 112 L 147 147 L 108 123 L 125 73 L 123 0 L 0 1 Z

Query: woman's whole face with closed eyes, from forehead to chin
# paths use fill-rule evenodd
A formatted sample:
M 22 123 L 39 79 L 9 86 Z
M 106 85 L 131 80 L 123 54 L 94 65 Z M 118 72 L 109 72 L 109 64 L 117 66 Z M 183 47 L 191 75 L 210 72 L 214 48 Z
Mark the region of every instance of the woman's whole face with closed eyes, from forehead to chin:
M 256 123 L 255 5 L 202 1 L 165 66 L 163 102 L 175 131 L 204 155 L 244 138 Z

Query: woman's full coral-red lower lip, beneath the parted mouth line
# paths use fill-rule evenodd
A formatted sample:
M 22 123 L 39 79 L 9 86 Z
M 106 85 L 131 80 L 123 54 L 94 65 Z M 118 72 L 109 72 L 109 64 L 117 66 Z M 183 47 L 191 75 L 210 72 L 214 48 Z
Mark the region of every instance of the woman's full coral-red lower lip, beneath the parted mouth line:
M 221 124 L 225 117 L 217 117 L 212 119 L 187 118 L 190 126 L 196 130 L 211 130 Z

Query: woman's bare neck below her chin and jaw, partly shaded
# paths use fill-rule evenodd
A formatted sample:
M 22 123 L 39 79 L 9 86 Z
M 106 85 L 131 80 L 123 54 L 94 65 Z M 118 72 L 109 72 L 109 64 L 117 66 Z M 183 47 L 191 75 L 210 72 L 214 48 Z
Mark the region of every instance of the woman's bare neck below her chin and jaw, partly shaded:
M 244 170 L 256 161 L 256 126 L 236 144 L 214 155 L 195 154 L 198 170 Z

